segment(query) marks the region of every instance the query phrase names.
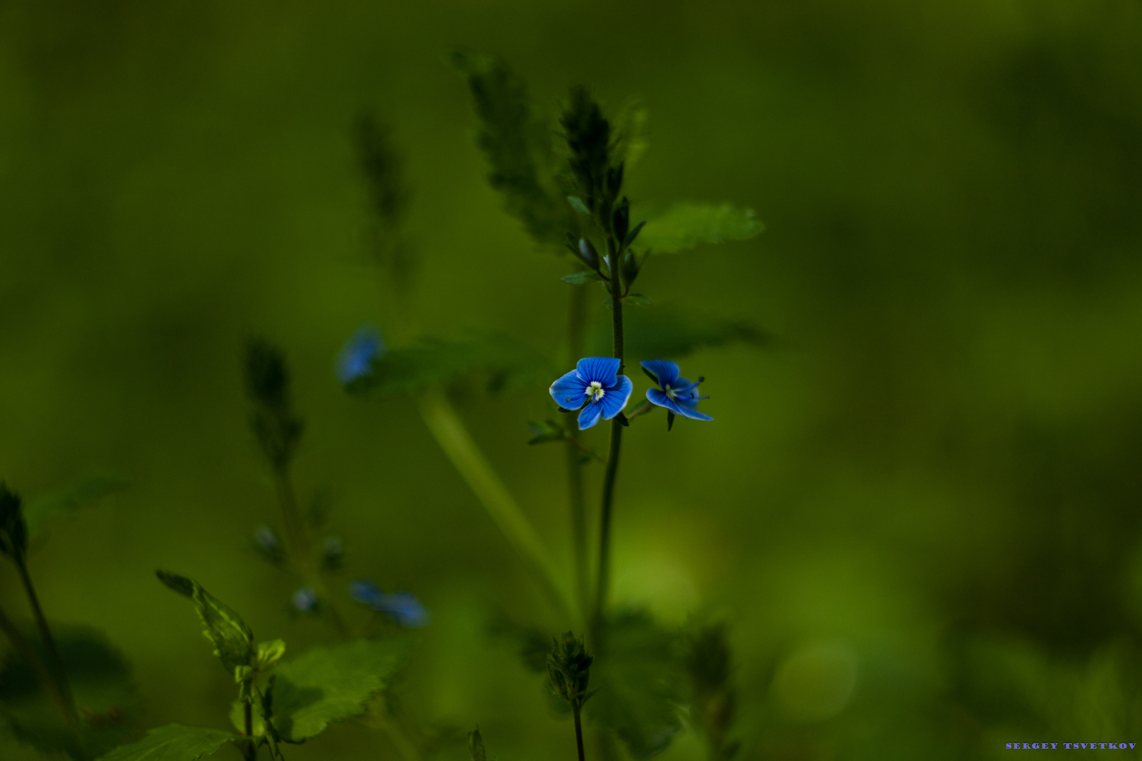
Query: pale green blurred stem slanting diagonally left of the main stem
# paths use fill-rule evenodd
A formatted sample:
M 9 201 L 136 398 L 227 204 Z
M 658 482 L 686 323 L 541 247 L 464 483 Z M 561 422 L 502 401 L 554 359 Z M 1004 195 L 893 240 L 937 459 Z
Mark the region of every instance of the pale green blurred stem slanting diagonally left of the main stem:
M 420 417 L 436 443 L 476 495 L 480 504 L 499 527 L 508 543 L 523 560 L 544 594 L 560 612 L 570 618 L 571 607 L 560 590 L 558 574 L 549 560 L 539 536 L 507 487 L 484 459 L 472 435 L 440 388 L 426 391 L 419 400 Z

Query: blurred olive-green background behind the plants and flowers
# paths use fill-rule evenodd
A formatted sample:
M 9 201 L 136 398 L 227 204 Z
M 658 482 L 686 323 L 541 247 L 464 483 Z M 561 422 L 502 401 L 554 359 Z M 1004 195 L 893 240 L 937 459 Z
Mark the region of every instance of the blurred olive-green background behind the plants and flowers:
M 234 690 L 156 567 L 293 654 L 328 639 L 248 548 L 276 519 L 240 374 L 265 335 L 345 579 L 434 616 L 403 711 L 480 723 L 507 761 L 572 758 L 570 724 L 485 631 L 497 609 L 561 622 L 412 403 L 333 375 L 386 313 L 362 110 L 407 155 L 424 330 L 563 339 L 566 259 L 485 183 L 447 63 L 464 45 L 552 113 L 573 82 L 612 111 L 640 95 L 634 199 L 766 223 L 642 275 L 656 301 L 778 341 L 683 362 L 717 419 L 630 430 L 614 529 L 618 600 L 731 623 L 745 758 L 1142 740 L 1140 41 L 1136 0 L 0 3 L 0 475 L 26 497 L 130 481 L 33 555 L 48 616 L 126 652 L 145 726 L 225 727 Z M 562 450 L 524 446 L 545 396 L 458 404 L 566 569 Z M 0 602 L 25 615 L 7 566 Z M 287 754 L 396 758 L 354 724 Z M 690 732 L 661 758 L 705 750 Z

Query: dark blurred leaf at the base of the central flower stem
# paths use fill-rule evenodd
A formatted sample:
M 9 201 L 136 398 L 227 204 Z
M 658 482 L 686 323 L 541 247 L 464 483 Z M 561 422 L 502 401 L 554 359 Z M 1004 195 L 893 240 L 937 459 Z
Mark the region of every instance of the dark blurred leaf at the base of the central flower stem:
M 675 707 L 684 696 L 677 635 L 649 614 L 628 610 L 609 622 L 605 638 L 605 655 L 590 668 L 598 694 L 585 710 L 596 724 L 618 732 L 630 755 L 650 758 L 682 730 Z

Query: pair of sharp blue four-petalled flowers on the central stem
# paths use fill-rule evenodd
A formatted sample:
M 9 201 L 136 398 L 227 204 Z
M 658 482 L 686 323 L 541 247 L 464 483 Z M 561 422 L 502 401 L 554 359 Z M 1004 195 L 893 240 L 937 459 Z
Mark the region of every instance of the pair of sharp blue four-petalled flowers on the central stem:
M 580 431 L 600 419 L 611 419 L 630 400 L 634 384 L 627 376 L 619 375 L 619 360 L 610 357 L 586 357 L 579 360 L 576 369 L 552 384 L 552 399 L 561 409 L 579 410 Z M 698 402 L 708 399 L 698 395 L 698 384 L 705 378 L 691 383 L 669 360 L 643 360 L 638 365 L 659 386 L 646 391 L 646 399 L 652 404 L 694 420 L 714 419 L 698 411 Z

